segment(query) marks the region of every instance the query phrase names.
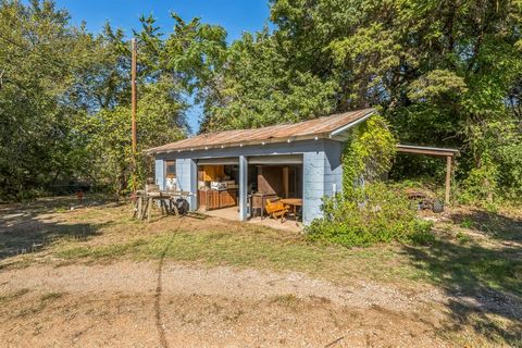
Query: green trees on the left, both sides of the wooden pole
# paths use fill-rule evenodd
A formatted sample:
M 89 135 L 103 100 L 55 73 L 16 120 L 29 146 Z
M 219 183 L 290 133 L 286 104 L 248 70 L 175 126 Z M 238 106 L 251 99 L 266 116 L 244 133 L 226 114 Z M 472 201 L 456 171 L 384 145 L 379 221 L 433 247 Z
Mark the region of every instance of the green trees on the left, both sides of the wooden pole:
M 134 33 L 140 184 L 152 169 L 141 151 L 186 136 L 186 97 L 195 82 L 214 78 L 209 66 L 226 48 L 223 28 L 173 20 L 166 39 L 150 16 Z M 125 34 L 109 23 L 89 34 L 48 0 L 0 1 L 0 197 L 23 199 L 71 179 L 125 192 L 133 172 Z

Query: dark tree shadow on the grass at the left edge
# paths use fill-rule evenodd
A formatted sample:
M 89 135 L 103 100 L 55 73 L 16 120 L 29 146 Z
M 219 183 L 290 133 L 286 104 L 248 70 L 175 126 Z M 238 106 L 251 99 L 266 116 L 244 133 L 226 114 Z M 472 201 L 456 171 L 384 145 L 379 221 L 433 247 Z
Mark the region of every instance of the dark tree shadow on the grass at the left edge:
M 83 202 L 96 206 L 94 199 Z M 73 198 L 41 199 L 28 204 L 0 207 L 0 260 L 22 253 L 41 251 L 63 239 L 86 240 L 100 234 L 103 224 L 65 224 L 50 220 L 47 214 L 82 209 Z

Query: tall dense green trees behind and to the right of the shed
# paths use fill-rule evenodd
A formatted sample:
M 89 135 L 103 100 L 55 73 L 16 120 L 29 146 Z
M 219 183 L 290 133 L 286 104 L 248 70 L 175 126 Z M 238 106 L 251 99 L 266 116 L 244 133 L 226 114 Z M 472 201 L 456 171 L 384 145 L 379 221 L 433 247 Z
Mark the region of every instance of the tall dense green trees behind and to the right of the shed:
M 474 200 L 517 197 L 521 154 L 508 147 L 521 135 L 520 1 L 270 3 L 273 30 L 231 47 L 223 98 L 206 109 L 207 129 L 381 107 L 401 142 L 459 148 L 457 178 L 469 177 Z M 432 159 L 409 163 L 394 177 L 438 167 Z M 509 173 L 499 171 L 488 185 L 476 181 L 477 171 L 505 165 Z

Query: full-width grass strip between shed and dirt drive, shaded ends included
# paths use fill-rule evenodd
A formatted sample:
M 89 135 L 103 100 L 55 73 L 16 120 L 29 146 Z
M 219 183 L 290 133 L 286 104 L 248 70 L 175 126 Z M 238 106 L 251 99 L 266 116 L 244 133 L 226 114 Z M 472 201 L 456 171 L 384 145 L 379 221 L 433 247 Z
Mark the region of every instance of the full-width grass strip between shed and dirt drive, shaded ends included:
M 23 233 L 16 233 L 14 225 L 11 231 L 0 234 L 0 243 L 10 238 L 17 245 L 23 245 L 24 238 L 26 245 L 32 245 L 35 240 L 45 243 L 41 235 L 46 238 L 52 236 L 40 250 L 44 252 L 5 258 L 4 266 L 25 266 L 49 259 L 70 263 L 77 260 L 107 262 L 165 258 L 210 266 L 298 271 L 338 283 L 357 278 L 412 288 L 426 283 L 442 284 L 450 276 L 464 288 L 473 288 L 480 279 L 493 289 L 522 295 L 520 254 L 514 248 L 499 249 L 498 243 L 500 233 L 510 237 L 513 233 L 520 235 L 508 224 L 517 222 L 512 210 L 511 217 L 505 217 L 501 225 L 500 217 L 489 219 L 493 227 L 483 229 L 492 234 L 489 229 L 496 227 L 497 233 L 487 238 L 476 237 L 472 229 L 480 223 L 484 225 L 484 216 L 480 216 L 478 223 L 473 220 L 474 215 L 458 211 L 455 222 L 438 224 L 439 238 L 433 245 L 394 244 L 347 249 L 308 243 L 295 233 L 216 217 L 156 215 L 152 223 L 147 224 L 130 219 L 128 204 L 113 202 L 75 210 L 63 208 L 64 204 L 53 202 L 49 212 L 39 202 L 35 206 L 37 219 L 32 215 L 28 225 L 27 222 L 21 224 Z M 63 212 L 57 212 L 57 206 Z M 36 233 L 26 233 L 30 227 Z M 470 272 L 475 276 L 465 276 Z

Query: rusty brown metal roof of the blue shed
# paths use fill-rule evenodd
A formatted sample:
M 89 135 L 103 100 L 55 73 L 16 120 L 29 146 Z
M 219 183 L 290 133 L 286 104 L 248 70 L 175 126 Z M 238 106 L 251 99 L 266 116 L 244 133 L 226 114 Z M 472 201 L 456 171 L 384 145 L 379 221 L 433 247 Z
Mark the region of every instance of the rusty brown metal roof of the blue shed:
M 234 129 L 178 140 L 146 150 L 148 153 L 225 148 L 247 145 L 263 145 L 268 142 L 287 142 L 313 138 L 339 139 L 339 134 L 351 126 L 366 120 L 375 112 L 364 109 L 330 116 L 319 117 L 294 124 L 278 124 L 263 128 Z

